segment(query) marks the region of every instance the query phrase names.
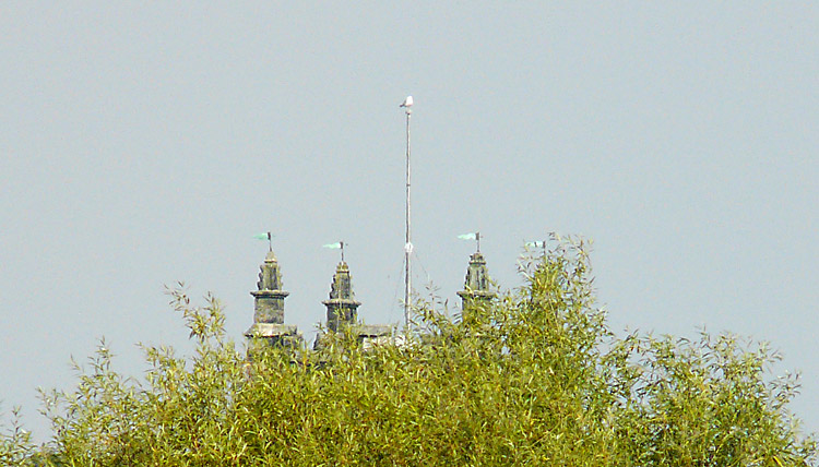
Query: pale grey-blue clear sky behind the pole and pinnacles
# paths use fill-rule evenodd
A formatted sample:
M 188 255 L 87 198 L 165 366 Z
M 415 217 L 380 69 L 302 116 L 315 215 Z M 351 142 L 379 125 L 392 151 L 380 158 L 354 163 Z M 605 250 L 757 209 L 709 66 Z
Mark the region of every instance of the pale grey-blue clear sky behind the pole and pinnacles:
M 104 337 L 190 350 L 165 286 L 238 342 L 272 231 L 285 320 L 324 320 L 344 240 L 367 323 L 402 319 L 406 95 L 416 291 L 450 306 L 479 230 L 593 241 L 613 330 L 770 342 L 819 431 L 819 4 L 0 4 L 0 411 L 49 434 Z

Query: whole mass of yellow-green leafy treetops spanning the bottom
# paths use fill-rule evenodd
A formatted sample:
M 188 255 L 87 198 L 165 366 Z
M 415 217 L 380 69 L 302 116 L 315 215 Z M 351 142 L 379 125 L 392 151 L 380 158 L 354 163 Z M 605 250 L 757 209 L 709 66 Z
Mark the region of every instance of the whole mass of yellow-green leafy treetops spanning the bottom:
M 524 286 L 459 320 L 418 307 L 424 330 L 364 349 L 351 332 L 318 351 L 253 349 L 225 336 L 217 300 L 169 291 L 195 342 L 190 358 L 145 347 L 141 381 L 102 343 L 73 392 L 45 394 L 47 455 L 27 434 L 5 464 L 814 465 L 787 412 L 794 378 L 732 336 L 617 338 L 594 308 L 582 241 L 521 262 Z M 16 434 L 14 434 L 16 433 Z

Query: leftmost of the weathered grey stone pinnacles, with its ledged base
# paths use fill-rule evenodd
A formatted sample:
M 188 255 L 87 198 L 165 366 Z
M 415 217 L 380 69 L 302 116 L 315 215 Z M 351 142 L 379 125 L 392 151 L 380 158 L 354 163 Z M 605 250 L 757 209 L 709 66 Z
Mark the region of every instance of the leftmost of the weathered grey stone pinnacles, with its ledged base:
M 245 333 L 250 339 L 263 339 L 271 345 L 300 345 L 302 337 L 295 325 L 284 324 L 284 299 L 289 292 L 282 290 L 282 272 L 273 251 L 269 251 L 260 266 L 258 290 L 250 295 L 256 301 L 253 325 Z

